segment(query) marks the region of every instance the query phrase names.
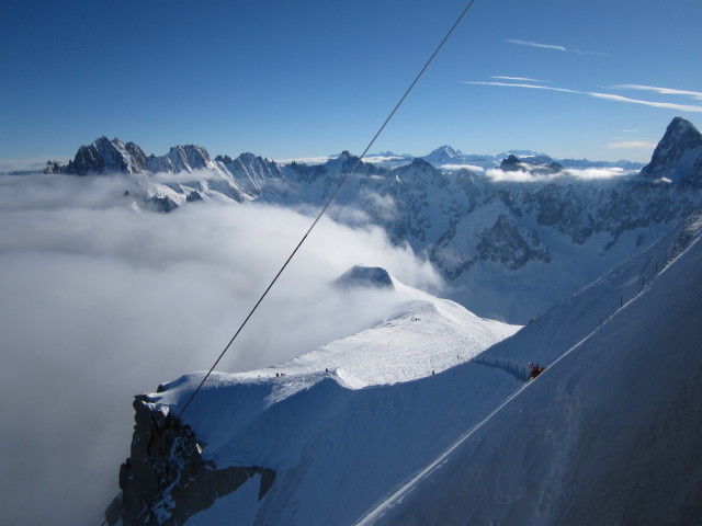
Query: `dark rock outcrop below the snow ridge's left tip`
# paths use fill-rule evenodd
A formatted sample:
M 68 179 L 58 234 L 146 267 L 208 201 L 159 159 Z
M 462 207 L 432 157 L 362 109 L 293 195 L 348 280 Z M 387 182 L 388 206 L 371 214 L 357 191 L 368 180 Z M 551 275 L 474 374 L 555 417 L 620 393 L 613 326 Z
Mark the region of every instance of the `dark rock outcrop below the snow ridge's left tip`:
M 259 501 L 275 481 L 275 471 L 262 467 L 217 469 L 202 458 L 192 430 L 147 396 L 135 397 L 134 409 L 131 456 L 120 469 L 122 494 L 105 511 L 110 524 L 181 525 L 252 477 L 260 476 Z

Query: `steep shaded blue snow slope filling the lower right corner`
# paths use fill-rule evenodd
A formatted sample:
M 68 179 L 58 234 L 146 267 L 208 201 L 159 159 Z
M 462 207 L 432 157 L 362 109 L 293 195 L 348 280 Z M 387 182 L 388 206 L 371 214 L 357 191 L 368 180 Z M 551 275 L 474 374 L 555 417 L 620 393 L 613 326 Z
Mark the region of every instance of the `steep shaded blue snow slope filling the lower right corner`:
M 551 362 L 359 524 L 699 524 L 701 225 L 648 251 L 677 259 L 601 327 L 596 300 L 646 255 L 486 353 Z

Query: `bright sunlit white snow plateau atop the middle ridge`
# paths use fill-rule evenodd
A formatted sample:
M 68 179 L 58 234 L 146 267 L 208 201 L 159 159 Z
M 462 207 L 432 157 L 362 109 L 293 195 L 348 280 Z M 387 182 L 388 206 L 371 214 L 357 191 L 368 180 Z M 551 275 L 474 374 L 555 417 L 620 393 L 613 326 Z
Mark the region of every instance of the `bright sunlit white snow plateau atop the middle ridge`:
M 409 287 L 395 282 L 400 291 Z M 464 363 L 517 332 L 476 317 L 449 300 L 411 290 L 412 301 L 360 333 L 322 345 L 285 364 L 237 373 L 240 380 L 275 378 L 272 404 L 332 376 L 349 389 L 405 382 Z M 278 375 L 278 376 L 276 376 Z

